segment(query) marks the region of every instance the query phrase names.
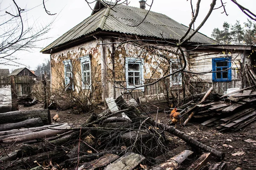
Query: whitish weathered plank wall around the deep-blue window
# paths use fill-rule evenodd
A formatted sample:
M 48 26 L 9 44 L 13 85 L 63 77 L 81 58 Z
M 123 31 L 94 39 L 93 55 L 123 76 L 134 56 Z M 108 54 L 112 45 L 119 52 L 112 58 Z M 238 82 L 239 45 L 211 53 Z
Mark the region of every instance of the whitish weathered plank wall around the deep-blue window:
M 189 54 L 189 69 L 192 72 L 202 73 L 212 71 L 212 59 L 221 57 L 232 57 L 232 81 L 231 82 L 212 82 L 212 73 L 207 73 L 204 75 L 197 75 L 198 82 L 190 80 L 190 83 L 197 89 L 190 89 L 192 94 L 195 91 L 207 91 L 210 87 L 214 87 L 213 92 L 218 94 L 223 94 L 228 88 L 243 88 L 242 87 L 242 67 L 241 62 L 249 62 L 247 57 L 244 57 L 243 53 L 235 54 L 223 54 L 219 52 L 206 53 L 206 52 L 190 52 Z

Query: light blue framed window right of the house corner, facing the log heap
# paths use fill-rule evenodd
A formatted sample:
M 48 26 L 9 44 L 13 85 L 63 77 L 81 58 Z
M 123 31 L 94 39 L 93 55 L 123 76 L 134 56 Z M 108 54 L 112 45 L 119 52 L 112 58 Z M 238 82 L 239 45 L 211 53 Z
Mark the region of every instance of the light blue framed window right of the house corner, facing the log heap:
M 136 68 L 133 66 L 135 66 Z M 144 59 L 143 58 L 132 58 L 132 57 L 125 58 L 125 79 L 126 79 L 126 88 L 128 89 L 144 85 Z M 144 91 L 144 87 L 140 87 L 136 89 L 140 89 Z

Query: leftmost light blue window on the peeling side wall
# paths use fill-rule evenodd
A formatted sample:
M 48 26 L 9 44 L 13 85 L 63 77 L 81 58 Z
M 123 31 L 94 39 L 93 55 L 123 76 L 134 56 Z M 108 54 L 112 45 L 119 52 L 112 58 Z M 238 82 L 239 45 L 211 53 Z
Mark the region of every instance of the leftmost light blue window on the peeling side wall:
M 63 64 L 64 64 L 64 74 L 65 74 L 65 86 L 66 86 L 66 89 L 74 90 L 73 82 L 71 82 L 71 84 L 70 84 L 70 79 L 73 79 L 71 59 L 63 61 Z

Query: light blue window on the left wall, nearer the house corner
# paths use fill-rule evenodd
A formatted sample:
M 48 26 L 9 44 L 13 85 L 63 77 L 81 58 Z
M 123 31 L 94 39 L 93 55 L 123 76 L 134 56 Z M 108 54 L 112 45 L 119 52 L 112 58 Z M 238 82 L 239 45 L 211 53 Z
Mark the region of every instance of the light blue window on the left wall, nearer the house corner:
M 91 89 L 92 85 L 92 74 L 91 74 L 91 60 L 90 56 L 86 55 L 79 58 L 81 62 L 81 79 L 82 89 Z M 89 67 L 88 67 L 89 65 Z M 89 81 L 88 81 L 89 79 Z

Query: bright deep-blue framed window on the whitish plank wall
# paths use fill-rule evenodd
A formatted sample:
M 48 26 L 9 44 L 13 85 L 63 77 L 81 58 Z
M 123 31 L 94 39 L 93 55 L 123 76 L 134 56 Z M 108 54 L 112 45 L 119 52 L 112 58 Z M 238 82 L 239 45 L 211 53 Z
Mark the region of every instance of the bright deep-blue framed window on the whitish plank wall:
M 232 79 L 231 58 L 223 57 L 212 59 L 212 71 L 218 71 L 212 73 L 213 82 L 230 82 Z

